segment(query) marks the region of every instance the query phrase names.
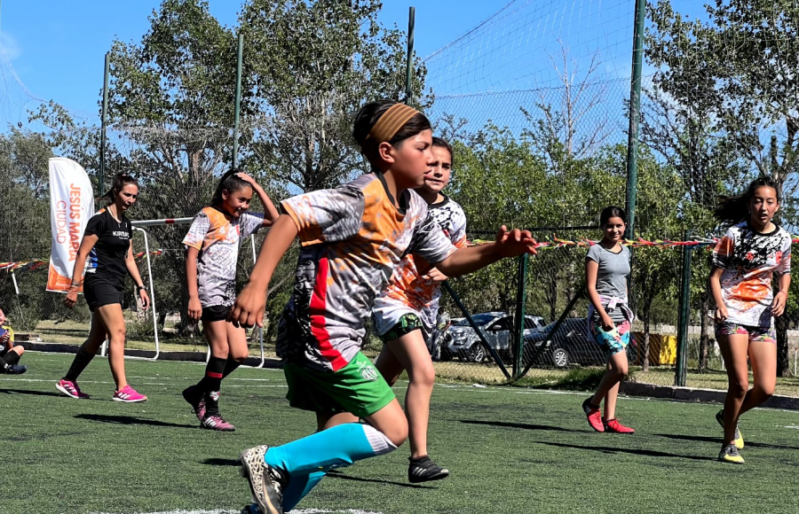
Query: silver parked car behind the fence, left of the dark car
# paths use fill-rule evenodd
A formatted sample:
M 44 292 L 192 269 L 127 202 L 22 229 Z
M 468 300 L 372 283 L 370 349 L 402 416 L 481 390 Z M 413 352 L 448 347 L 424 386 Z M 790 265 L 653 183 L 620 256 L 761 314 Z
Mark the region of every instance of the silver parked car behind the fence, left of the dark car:
M 510 358 L 511 331 L 513 330 L 513 316 L 504 312 L 486 312 L 472 315 L 486 339 L 502 356 Z M 464 362 L 483 362 L 488 357 L 488 350 L 483 346 L 477 333 L 471 328 L 469 320 L 463 318 L 449 327 L 445 336 L 445 345 L 441 349 L 441 360 L 451 360 L 453 357 Z M 534 330 L 544 325 L 543 318 L 537 315 L 525 316 L 525 337 L 532 335 Z

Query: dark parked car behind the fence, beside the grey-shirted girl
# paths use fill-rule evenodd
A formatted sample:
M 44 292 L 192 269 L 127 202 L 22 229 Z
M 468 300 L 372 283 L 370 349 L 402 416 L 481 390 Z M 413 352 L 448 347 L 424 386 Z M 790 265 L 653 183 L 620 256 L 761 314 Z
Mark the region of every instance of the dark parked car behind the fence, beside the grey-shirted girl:
M 605 364 L 607 358 L 602 348 L 589 338 L 588 319 L 567 318 L 554 337 L 550 334 L 555 323 L 525 336 L 525 356 L 534 364 L 566 368 L 569 364 Z

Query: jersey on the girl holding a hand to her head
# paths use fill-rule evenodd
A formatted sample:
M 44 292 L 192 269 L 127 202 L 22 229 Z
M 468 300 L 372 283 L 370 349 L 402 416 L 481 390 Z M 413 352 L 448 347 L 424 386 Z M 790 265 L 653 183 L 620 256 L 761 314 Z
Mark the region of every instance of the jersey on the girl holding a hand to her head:
M 200 250 L 197 285 L 202 307 L 233 305 L 241 241 L 263 225 L 264 214 L 228 219 L 214 207 L 204 207 L 194 216 L 183 244 Z

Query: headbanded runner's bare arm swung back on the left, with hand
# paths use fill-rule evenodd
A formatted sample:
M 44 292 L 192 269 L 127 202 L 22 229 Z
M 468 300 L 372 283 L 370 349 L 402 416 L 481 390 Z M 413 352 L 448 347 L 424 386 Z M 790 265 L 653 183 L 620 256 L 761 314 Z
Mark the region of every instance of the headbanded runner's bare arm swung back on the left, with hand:
M 297 238 L 297 225 L 288 214 L 282 214 L 266 234 L 264 244 L 258 253 L 249 282 L 241 290 L 239 297 L 230 309 L 227 319 L 238 326 L 245 327 L 257 324 L 264 326 L 266 310 L 266 291 L 272 281 L 272 274 L 278 262 L 289 250 L 289 246 Z

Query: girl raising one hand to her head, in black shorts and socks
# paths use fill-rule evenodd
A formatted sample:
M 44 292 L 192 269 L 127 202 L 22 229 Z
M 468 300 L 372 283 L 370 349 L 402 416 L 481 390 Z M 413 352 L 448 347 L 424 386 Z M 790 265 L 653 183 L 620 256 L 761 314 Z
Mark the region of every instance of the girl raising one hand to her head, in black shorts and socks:
M 249 214 L 255 191 L 265 214 Z M 227 312 L 236 299 L 236 264 L 241 242 L 277 220 L 272 200 L 251 176 L 237 169 L 219 181 L 210 206 L 204 207 L 189 228 L 186 245 L 188 314 L 202 320 L 202 330 L 210 347 L 205 376 L 183 391 L 202 428 L 232 432 L 233 424 L 219 414 L 219 389 L 222 379 L 233 373 L 247 358 L 247 334 L 227 322 Z

